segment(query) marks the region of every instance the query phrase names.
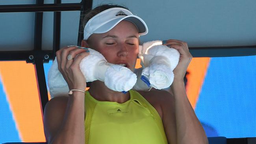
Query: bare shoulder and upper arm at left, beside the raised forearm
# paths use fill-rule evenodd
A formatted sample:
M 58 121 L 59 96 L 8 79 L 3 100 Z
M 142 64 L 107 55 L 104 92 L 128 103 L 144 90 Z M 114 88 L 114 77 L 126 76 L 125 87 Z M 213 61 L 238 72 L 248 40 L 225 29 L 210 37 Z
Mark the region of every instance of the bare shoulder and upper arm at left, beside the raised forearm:
M 57 132 L 63 121 L 69 97 L 59 96 L 46 103 L 44 111 L 44 130 L 48 140 Z

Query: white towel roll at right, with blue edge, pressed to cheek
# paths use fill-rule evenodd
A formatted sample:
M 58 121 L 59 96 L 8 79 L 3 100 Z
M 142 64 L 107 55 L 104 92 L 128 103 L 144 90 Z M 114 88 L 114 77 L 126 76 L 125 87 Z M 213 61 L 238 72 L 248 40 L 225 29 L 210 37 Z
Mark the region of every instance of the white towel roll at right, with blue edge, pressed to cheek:
M 162 41 L 145 42 L 139 47 L 139 58 L 145 76 L 155 89 L 165 89 L 173 83 L 173 70 L 178 65 L 180 53 Z

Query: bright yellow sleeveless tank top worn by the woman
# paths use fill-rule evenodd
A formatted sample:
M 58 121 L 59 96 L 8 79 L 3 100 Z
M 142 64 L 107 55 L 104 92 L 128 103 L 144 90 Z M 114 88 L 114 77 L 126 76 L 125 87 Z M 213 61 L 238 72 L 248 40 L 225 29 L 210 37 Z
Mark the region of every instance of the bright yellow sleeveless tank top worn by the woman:
M 130 90 L 124 103 L 98 101 L 85 93 L 85 144 L 167 144 L 162 120 L 152 105 Z

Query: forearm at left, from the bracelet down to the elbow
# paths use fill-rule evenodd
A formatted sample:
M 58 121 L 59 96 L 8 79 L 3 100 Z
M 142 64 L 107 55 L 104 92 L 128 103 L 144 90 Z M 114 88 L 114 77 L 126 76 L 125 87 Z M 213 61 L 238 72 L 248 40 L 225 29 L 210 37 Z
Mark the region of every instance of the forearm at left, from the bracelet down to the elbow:
M 73 91 L 67 103 L 62 126 L 50 144 L 84 144 L 84 94 Z

